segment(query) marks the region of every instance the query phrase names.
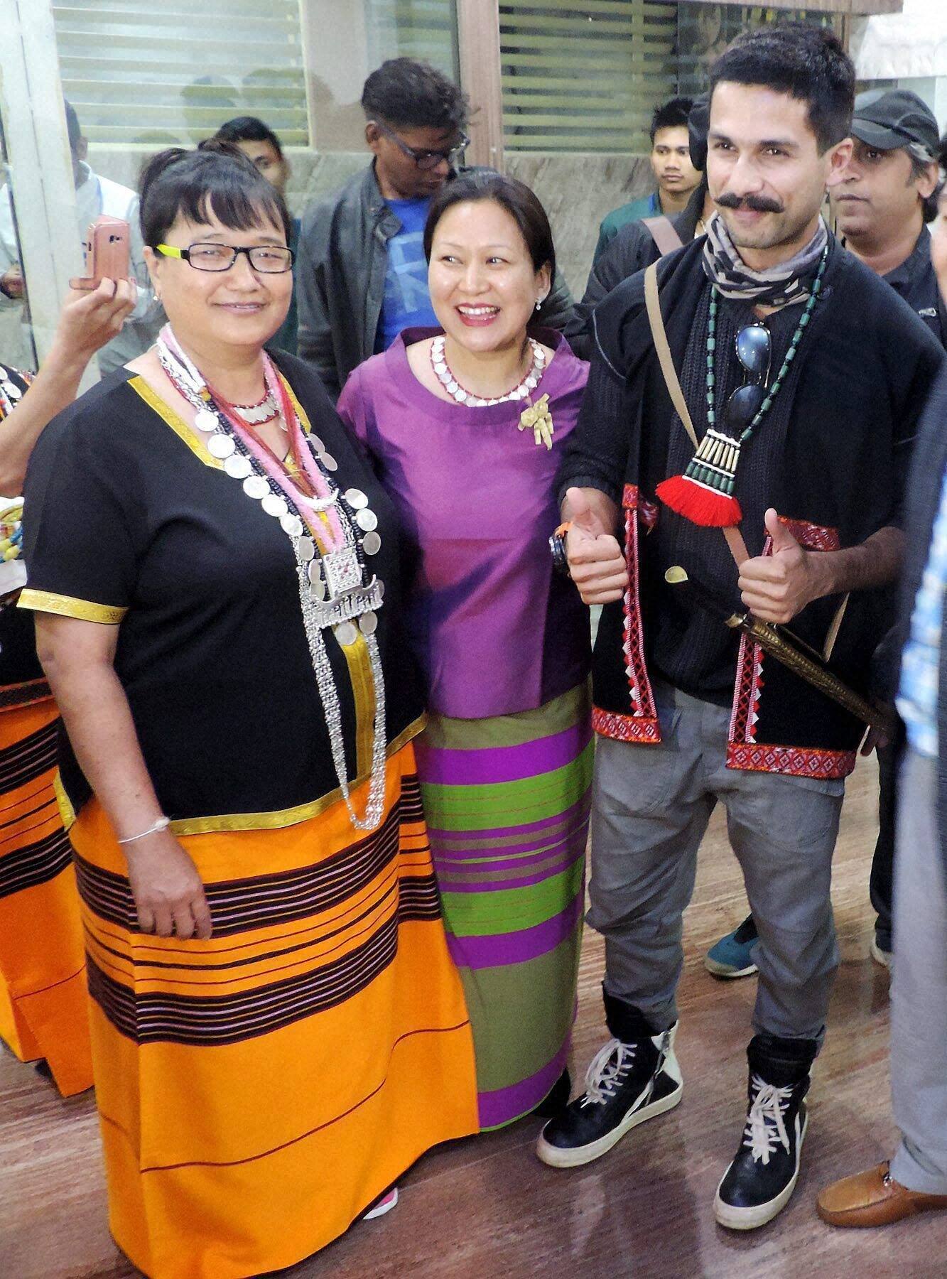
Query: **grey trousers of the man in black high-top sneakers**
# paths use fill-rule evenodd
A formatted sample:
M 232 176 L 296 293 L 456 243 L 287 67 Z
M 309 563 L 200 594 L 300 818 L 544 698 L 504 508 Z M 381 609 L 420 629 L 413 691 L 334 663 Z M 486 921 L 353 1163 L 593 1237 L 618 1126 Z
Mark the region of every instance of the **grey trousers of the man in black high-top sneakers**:
M 610 995 L 656 1032 L 677 1019 L 681 914 L 720 799 L 759 930 L 757 1033 L 820 1041 L 838 967 L 829 899 L 842 780 L 726 767 L 730 711 L 658 684 L 663 741 L 599 738 L 592 808 L 592 908 Z

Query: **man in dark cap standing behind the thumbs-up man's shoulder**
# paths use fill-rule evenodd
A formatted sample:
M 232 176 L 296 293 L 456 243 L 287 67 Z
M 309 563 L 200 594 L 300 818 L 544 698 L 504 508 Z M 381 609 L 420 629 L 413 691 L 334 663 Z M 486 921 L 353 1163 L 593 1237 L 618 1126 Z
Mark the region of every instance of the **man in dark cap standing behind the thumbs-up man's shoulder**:
M 832 191 L 832 211 L 845 247 L 886 280 L 947 347 L 947 306 L 930 261 L 927 224 L 937 215 L 939 169 L 934 113 L 909 90 L 869 90 L 855 98 L 851 159 Z M 887 647 L 887 646 L 886 646 Z M 891 889 L 895 856 L 895 743 L 878 747 L 879 833 L 870 894 L 877 912 L 872 954 L 891 967 Z M 753 916 L 711 948 L 704 961 L 717 977 L 757 971 Z

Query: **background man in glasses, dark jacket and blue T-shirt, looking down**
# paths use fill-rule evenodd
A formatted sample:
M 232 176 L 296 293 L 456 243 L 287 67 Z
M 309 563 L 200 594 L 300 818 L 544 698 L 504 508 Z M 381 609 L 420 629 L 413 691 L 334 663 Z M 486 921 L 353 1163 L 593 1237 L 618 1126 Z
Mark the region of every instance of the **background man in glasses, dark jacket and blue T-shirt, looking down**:
M 332 398 L 357 365 L 386 350 L 403 329 L 437 326 L 424 221 L 469 143 L 465 95 L 427 63 L 382 63 L 364 83 L 362 106 L 372 162 L 307 210 L 299 237 L 299 354 Z M 571 308 L 557 278 L 538 322 L 562 329 Z

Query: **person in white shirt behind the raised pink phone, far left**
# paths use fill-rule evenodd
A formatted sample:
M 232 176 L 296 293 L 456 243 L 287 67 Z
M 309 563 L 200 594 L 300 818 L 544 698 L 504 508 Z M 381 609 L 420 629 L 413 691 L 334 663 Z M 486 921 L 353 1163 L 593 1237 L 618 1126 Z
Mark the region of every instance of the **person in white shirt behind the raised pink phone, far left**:
M 138 301 L 134 311 L 125 321 L 121 333 L 104 347 L 98 354 L 98 367 L 105 375 L 148 349 L 161 327 L 164 312 L 148 286 L 142 233 L 138 225 L 138 196 L 128 187 L 121 187 L 109 178 L 100 178 L 98 174 L 92 171 L 86 162 L 88 143 L 82 136 L 78 116 L 69 102 L 65 104 L 65 120 L 69 133 L 69 151 L 73 161 L 81 239 L 86 239 L 89 224 L 104 214 L 109 217 L 120 217 L 130 226 L 130 260 L 127 274 L 134 276 L 138 281 Z M 26 310 L 26 301 L 10 188 L 8 185 L 0 189 L 0 311 L 19 307 L 23 310 L 23 320 L 27 322 L 28 312 Z

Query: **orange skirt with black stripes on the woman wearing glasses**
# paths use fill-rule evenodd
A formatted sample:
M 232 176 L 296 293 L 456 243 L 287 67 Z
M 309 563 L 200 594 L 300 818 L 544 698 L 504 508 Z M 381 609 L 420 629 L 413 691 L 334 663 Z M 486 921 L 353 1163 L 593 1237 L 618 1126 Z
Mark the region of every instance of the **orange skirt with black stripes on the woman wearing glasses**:
M 364 807 L 367 784 L 353 799 Z M 210 940 L 143 936 L 109 822 L 72 829 L 112 1234 L 152 1279 L 242 1279 L 335 1239 L 477 1131 L 470 1024 L 414 753 L 386 816 L 185 835 Z

